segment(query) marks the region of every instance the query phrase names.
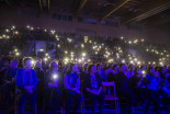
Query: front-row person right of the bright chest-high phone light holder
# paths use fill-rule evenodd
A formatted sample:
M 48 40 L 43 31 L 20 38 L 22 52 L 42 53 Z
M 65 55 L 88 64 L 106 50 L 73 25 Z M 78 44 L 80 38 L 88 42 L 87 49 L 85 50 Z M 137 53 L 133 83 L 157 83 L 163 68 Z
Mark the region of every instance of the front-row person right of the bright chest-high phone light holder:
M 70 106 L 76 104 L 75 113 L 77 113 L 81 103 L 80 76 L 76 64 L 70 64 L 65 75 L 65 93 L 66 93 L 66 113 L 70 113 Z M 73 113 L 73 114 L 75 114 Z

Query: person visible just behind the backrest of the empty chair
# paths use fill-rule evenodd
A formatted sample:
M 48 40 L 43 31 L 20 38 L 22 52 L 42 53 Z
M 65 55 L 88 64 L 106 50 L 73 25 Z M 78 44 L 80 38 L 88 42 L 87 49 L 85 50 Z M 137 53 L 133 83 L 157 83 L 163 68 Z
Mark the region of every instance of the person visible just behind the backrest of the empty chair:
M 107 81 L 106 73 L 105 73 L 104 69 L 102 69 L 101 64 L 97 64 L 97 73 L 100 76 L 102 81 Z

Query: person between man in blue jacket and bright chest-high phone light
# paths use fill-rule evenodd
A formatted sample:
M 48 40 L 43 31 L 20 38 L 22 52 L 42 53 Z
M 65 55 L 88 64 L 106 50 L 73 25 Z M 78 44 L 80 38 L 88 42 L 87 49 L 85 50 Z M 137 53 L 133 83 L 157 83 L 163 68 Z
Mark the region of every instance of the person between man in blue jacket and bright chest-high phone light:
M 44 70 L 42 69 L 42 60 L 38 59 L 35 64 L 34 70 L 36 72 L 37 76 L 37 107 L 38 109 L 43 109 L 43 101 L 44 101 Z

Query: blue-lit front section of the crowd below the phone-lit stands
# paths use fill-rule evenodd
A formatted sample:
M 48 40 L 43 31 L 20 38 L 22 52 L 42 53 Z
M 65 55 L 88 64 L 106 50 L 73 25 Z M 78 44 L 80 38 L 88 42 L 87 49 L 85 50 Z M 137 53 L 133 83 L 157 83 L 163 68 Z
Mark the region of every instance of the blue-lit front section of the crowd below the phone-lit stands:
M 115 82 L 117 98 L 126 98 L 125 113 L 141 105 L 147 114 L 150 105 L 155 113 L 167 109 L 170 98 L 170 67 L 122 62 L 63 62 L 44 61 L 31 57 L 0 58 L 0 90 L 3 105 L 14 105 L 16 96 L 19 114 L 23 114 L 26 101 L 30 112 L 35 104 L 39 113 L 48 114 L 65 106 L 67 114 L 78 113 L 82 99 L 89 99 L 91 114 L 99 105 L 103 114 L 107 91 L 102 82 Z M 19 95 L 20 94 L 20 95 Z

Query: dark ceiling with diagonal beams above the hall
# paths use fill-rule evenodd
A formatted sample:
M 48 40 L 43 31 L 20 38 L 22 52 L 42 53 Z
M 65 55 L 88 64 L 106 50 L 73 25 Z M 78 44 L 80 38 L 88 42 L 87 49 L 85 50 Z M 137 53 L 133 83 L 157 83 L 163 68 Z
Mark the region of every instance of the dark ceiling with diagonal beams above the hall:
M 0 0 L 0 7 L 32 7 L 41 12 L 69 11 L 97 19 L 120 18 L 123 24 L 141 23 L 170 29 L 170 0 Z

